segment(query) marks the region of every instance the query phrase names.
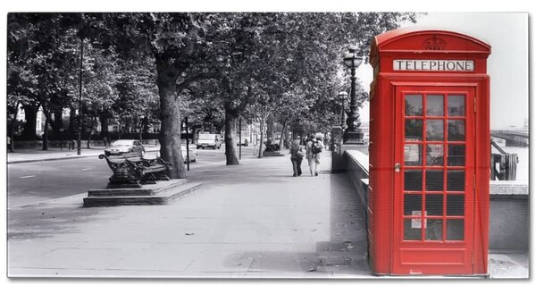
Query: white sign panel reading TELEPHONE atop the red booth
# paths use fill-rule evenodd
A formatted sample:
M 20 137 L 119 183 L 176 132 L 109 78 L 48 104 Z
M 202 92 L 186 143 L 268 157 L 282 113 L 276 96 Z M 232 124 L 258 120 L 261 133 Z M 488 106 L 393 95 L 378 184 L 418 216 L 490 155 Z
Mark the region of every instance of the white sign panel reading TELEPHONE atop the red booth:
M 472 60 L 395 59 L 394 71 L 474 71 Z

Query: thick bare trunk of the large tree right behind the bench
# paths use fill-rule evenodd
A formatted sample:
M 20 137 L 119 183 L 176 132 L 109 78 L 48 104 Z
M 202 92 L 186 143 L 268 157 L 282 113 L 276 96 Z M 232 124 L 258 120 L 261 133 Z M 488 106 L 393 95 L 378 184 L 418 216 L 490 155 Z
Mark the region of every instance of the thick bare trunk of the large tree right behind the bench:
M 177 101 L 176 79 L 166 79 L 158 72 L 158 93 L 160 95 L 160 156 L 172 164 L 170 178 L 185 179 L 186 170 L 180 151 L 180 106 Z

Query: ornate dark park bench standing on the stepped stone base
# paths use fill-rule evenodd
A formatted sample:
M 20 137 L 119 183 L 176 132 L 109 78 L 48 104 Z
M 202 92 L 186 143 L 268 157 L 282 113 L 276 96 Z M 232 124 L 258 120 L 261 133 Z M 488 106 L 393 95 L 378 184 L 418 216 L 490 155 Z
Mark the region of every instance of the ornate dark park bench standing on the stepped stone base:
M 137 154 L 98 155 L 106 159 L 113 171 L 108 188 L 141 188 L 142 184 L 155 184 L 155 181 L 169 181 L 168 174 L 172 164 L 162 158 L 143 158 Z

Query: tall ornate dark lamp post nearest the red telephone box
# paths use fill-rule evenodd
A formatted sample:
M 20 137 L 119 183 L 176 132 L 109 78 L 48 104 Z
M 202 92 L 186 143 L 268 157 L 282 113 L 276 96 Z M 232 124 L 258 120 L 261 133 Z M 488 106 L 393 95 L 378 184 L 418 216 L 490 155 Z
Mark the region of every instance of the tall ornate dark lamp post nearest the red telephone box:
M 363 133 L 359 130 L 359 113 L 357 111 L 356 101 L 356 68 L 362 61 L 362 56 L 357 55 L 356 48 L 349 48 L 348 54 L 344 56 L 345 65 L 351 70 L 351 88 L 350 88 L 350 112 L 347 119 L 347 130 L 344 132 L 344 143 L 363 143 Z

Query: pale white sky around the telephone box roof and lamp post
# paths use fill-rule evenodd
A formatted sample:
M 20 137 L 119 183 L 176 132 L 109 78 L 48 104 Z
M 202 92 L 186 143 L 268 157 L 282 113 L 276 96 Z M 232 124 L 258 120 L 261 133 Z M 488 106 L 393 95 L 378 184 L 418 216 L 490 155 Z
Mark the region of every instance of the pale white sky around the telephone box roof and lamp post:
M 454 30 L 490 44 L 490 127 L 503 130 L 522 127 L 529 118 L 528 17 L 528 13 L 428 13 L 416 24 L 403 26 Z M 359 68 L 358 77 L 368 91 L 373 77 L 370 64 Z M 368 111 L 368 105 L 360 111 L 364 122 Z

